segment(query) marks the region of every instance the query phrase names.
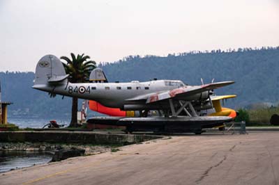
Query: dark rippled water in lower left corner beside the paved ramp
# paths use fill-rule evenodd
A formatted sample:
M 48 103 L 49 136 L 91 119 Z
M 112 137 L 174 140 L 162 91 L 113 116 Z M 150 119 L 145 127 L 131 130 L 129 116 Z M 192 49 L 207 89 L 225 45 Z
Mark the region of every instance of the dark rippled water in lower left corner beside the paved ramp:
M 47 152 L 0 151 L 0 172 L 48 163 L 52 154 Z

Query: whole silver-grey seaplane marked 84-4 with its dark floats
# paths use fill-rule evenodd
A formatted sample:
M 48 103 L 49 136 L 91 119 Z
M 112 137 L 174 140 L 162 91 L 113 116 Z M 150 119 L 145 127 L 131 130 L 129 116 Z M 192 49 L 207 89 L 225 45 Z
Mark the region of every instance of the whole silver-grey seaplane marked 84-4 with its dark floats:
M 98 74 L 95 77 L 98 81 Z M 194 132 L 218 127 L 232 121 L 224 115 L 201 115 L 202 110 L 213 108 L 213 90 L 234 81 L 189 86 L 179 80 L 131 81 L 125 83 L 70 83 L 62 62 L 53 55 L 40 58 L 32 88 L 68 97 L 89 99 L 107 108 L 120 111 L 138 111 L 139 115 L 104 116 L 89 118 L 87 122 L 125 126 L 127 132 Z M 229 97 L 227 97 L 229 98 Z M 218 97 L 217 99 L 220 99 Z M 220 108 L 220 107 L 219 107 Z M 158 115 L 149 115 L 156 110 Z M 231 112 L 229 112 L 231 113 Z

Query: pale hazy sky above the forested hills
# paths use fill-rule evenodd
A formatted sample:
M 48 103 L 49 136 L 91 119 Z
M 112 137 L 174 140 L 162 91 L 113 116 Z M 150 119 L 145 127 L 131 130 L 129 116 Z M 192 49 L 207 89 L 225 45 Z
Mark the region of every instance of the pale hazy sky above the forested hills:
M 45 54 L 98 62 L 279 45 L 279 0 L 0 0 L 0 71 Z

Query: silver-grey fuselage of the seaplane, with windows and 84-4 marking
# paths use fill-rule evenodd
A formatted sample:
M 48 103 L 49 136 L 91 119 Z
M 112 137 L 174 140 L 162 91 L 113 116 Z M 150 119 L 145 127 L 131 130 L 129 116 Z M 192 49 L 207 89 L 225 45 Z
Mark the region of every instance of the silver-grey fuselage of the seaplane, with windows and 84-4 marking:
M 124 105 L 146 105 L 144 97 L 153 93 L 160 93 L 165 90 L 174 90 L 177 88 L 188 88 L 182 81 L 176 80 L 153 80 L 146 82 L 132 81 L 128 83 L 70 83 L 63 82 L 57 86 L 51 83 L 34 85 L 33 88 L 44 90 L 58 95 L 69 97 L 79 97 L 100 102 L 101 104 L 113 108 L 124 108 Z M 140 97 L 142 101 L 140 101 Z M 208 98 L 208 92 L 191 95 L 185 100 Z M 133 100 L 137 99 L 137 100 Z M 129 108 L 126 108 L 129 109 Z M 132 108 L 133 109 L 133 108 Z M 135 108 L 134 108 L 135 109 Z

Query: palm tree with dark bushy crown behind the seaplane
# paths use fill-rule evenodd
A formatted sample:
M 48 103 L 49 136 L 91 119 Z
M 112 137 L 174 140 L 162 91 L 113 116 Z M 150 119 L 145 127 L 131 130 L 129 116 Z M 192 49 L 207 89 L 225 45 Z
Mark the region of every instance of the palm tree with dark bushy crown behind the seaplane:
M 84 56 L 84 54 L 78 54 L 77 57 L 75 57 L 75 54 L 71 53 L 70 56 L 72 57 L 72 60 L 66 56 L 61 56 L 61 59 L 67 62 L 67 64 L 63 63 L 63 66 L 66 70 L 66 74 L 70 74 L 68 80 L 71 83 L 88 82 L 91 70 L 96 68 L 96 62 L 87 61 L 90 59 L 90 56 Z M 72 118 L 69 127 L 77 127 L 77 104 L 78 98 L 73 97 Z

